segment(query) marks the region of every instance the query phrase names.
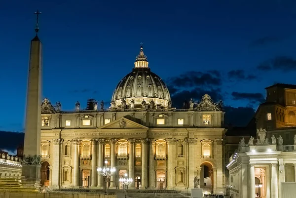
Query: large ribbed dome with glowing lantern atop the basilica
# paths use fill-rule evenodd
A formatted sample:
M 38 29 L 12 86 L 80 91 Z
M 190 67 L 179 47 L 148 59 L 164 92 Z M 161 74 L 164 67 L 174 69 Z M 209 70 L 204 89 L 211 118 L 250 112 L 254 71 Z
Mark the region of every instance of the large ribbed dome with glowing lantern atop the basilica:
M 117 84 L 111 101 L 112 108 L 171 108 L 169 90 L 163 80 L 148 68 L 143 46 L 136 57 L 135 68 Z

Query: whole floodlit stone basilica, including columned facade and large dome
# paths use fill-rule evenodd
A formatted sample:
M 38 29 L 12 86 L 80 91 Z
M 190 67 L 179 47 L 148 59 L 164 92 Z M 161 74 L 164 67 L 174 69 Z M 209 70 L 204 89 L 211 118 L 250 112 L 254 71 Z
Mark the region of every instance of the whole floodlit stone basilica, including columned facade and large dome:
M 224 192 L 222 102 L 205 94 L 189 108 L 172 106 L 163 80 L 150 71 L 141 46 L 131 73 L 120 80 L 107 107 L 80 103 L 65 111 L 45 98 L 41 105 L 41 185 L 103 188 L 104 160 L 116 167 L 109 188 L 122 188 L 125 173 L 135 189 Z M 197 176 L 198 184 L 194 183 Z

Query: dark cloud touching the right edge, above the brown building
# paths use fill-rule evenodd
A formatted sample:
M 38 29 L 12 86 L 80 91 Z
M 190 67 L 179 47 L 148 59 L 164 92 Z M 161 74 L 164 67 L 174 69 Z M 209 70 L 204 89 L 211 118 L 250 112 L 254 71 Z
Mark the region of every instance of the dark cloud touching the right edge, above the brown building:
M 296 70 L 296 60 L 288 56 L 278 56 L 259 64 L 257 69 L 261 71 L 279 70 L 289 72 Z

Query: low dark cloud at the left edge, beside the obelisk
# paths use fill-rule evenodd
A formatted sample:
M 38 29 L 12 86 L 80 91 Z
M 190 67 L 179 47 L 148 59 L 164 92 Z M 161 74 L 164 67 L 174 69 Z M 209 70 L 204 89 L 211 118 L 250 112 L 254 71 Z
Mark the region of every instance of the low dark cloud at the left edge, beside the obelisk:
M 0 131 L 0 150 L 15 152 L 20 144 L 24 144 L 25 133 Z

